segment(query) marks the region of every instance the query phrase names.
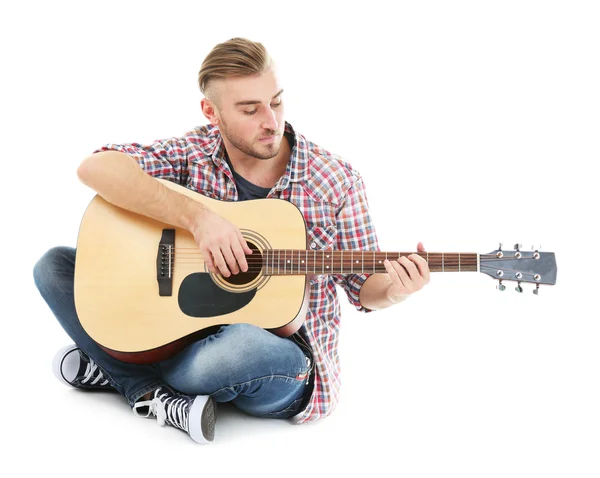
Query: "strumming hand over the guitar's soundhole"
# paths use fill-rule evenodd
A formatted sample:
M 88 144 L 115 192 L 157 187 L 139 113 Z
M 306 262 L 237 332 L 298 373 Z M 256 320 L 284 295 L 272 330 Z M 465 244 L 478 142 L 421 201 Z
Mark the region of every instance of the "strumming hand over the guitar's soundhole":
M 224 277 L 248 270 L 246 254 L 252 254 L 240 230 L 218 214 L 204 209 L 190 231 L 208 270 Z

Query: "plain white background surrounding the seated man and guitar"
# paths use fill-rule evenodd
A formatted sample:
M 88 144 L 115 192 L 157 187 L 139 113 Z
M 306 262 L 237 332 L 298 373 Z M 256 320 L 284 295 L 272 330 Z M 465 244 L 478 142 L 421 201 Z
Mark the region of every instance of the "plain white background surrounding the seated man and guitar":
M 2 467 L 17 476 L 599 476 L 595 7 L 2 7 Z M 196 75 L 234 36 L 263 42 L 277 60 L 292 125 L 363 174 L 382 250 L 541 244 L 559 273 L 538 297 L 531 286 L 499 292 L 479 273 L 435 274 L 405 303 L 369 315 L 342 297 L 334 414 L 292 426 L 224 406 L 215 442 L 201 447 L 134 417 L 120 396 L 55 380 L 52 357 L 69 339 L 32 268 L 50 247 L 76 244 L 93 197 L 75 173 L 84 157 L 205 123 Z

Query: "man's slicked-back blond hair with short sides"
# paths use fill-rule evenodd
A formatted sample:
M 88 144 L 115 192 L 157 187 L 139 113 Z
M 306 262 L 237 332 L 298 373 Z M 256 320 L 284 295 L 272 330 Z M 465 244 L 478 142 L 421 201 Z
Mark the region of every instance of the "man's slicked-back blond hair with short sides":
M 206 56 L 198 72 L 200 91 L 208 98 L 211 96 L 209 86 L 212 80 L 261 74 L 271 66 L 271 62 L 262 43 L 246 38 L 232 38 L 219 43 Z

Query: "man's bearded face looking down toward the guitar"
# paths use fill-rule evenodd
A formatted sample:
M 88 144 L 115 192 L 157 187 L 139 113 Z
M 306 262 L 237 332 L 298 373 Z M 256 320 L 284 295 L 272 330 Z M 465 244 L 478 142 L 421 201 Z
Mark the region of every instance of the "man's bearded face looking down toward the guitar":
M 215 83 L 215 115 L 231 146 L 257 159 L 275 157 L 281 147 L 285 121 L 283 90 L 273 68 L 262 75 Z

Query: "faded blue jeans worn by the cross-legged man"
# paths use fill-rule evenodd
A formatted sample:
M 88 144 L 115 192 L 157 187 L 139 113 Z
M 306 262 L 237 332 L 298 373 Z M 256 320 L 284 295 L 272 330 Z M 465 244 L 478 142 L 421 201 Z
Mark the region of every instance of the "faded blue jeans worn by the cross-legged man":
M 85 332 L 75 311 L 75 254 L 70 247 L 50 249 L 34 267 L 35 284 L 65 332 L 130 406 L 166 384 L 186 395 L 212 395 L 254 416 L 288 418 L 301 411 L 310 393 L 310 351 L 255 325 L 223 326 L 153 364 L 130 364 L 108 355 Z

